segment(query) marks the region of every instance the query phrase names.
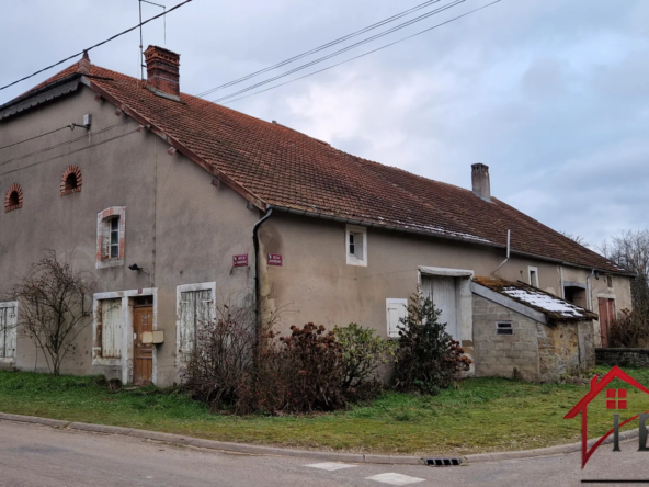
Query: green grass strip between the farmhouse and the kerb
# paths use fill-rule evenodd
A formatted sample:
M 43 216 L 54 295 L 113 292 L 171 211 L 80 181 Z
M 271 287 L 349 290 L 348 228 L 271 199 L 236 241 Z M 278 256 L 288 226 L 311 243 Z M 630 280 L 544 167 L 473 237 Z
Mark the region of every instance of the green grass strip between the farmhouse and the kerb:
M 600 369 L 599 372 L 607 372 Z M 649 385 L 649 370 L 625 367 Z M 579 441 L 579 418 L 563 415 L 587 386 L 469 378 L 439 396 L 386 393 L 371 406 L 314 416 L 210 415 L 186 396 L 153 386 L 110 393 L 96 377 L 0 371 L 0 411 L 113 424 L 212 440 L 389 454 L 469 454 Z M 624 384 L 611 387 L 625 387 Z M 613 428 L 601 395 L 589 407 L 589 437 Z M 649 396 L 628 388 L 622 420 L 649 410 Z M 637 421 L 629 423 L 637 428 Z

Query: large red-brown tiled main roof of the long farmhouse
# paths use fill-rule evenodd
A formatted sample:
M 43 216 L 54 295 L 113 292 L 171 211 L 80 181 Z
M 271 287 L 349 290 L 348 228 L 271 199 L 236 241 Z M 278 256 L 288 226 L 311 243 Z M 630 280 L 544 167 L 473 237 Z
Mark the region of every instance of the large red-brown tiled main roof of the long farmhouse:
M 76 72 L 78 65 L 36 88 Z M 501 247 L 511 229 L 513 252 L 628 273 L 498 199 L 486 202 L 190 94 L 167 100 L 143 81 L 99 66 L 90 66 L 90 76 L 94 87 L 266 205 Z

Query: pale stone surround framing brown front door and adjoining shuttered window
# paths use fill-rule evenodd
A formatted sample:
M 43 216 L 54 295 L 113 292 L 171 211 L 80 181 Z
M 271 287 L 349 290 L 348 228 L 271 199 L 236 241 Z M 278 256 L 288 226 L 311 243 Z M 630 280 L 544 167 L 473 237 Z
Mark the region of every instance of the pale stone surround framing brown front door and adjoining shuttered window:
M 134 347 L 133 347 L 133 298 L 141 296 L 152 296 L 153 298 L 153 330 L 158 329 L 158 288 L 145 287 L 141 290 L 114 291 L 107 293 L 95 293 L 92 296 L 92 342 L 91 347 L 96 340 L 96 327 L 100 316 L 100 304 L 102 299 L 122 299 L 122 359 L 92 359 L 92 365 L 103 366 L 119 366 L 122 369 L 122 382 L 124 384 L 133 383 L 133 364 L 134 364 Z M 153 347 L 153 363 L 152 363 L 151 381 L 158 384 L 158 348 Z

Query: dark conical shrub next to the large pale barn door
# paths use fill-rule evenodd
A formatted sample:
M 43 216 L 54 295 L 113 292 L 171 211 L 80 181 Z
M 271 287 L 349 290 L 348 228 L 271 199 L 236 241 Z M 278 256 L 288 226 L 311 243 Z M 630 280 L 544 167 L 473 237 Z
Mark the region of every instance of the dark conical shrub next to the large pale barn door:
M 435 395 L 448 387 L 471 360 L 459 342 L 445 331 L 440 314 L 421 292 L 410 298 L 408 316 L 399 326 L 399 350 L 395 369 L 396 387 Z

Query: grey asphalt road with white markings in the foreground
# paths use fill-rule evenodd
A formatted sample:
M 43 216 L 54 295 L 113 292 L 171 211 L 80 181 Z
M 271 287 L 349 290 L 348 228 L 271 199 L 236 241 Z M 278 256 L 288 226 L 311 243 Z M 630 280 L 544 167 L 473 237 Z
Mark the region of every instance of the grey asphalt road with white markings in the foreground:
M 588 485 L 582 478 L 649 480 L 649 452 L 637 452 L 637 440 L 620 446 L 620 453 L 613 453 L 611 445 L 602 446 L 583 473 L 579 453 L 446 468 L 352 465 L 218 453 L 0 420 L 0 486 L 535 487 Z

